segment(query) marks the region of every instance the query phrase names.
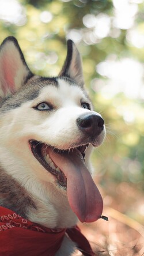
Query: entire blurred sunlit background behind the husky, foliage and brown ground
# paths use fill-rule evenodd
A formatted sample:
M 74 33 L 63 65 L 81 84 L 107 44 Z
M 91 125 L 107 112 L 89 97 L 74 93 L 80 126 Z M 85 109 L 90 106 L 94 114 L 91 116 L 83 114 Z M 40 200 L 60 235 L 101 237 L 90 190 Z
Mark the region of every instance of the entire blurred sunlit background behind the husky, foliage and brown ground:
M 109 217 L 81 228 L 97 255 L 143 255 L 144 1 L 0 0 L 0 29 L 1 42 L 16 36 L 29 67 L 44 76 L 59 73 L 67 39 L 77 44 L 107 127 L 92 162 Z

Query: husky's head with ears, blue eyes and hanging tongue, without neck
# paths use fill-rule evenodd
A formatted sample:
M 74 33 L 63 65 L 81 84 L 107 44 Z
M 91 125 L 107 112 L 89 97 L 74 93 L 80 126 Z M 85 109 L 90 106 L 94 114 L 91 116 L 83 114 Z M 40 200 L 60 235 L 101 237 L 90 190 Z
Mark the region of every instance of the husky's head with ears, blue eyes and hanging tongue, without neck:
M 97 220 L 103 199 L 88 171 L 88 156 L 91 146 L 103 142 L 105 126 L 84 89 L 75 44 L 67 42 L 59 76 L 45 78 L 29 70 L 17 40 L 7 37 L 0 48 L 0 76 L 1 149 L 21 170 L 14 160 L 13 167 L 1 160 L 3 168 L 25 187 L 32 186 L 32 177 L 46 189 L 50 184 L 67 195 L 79 220 Z

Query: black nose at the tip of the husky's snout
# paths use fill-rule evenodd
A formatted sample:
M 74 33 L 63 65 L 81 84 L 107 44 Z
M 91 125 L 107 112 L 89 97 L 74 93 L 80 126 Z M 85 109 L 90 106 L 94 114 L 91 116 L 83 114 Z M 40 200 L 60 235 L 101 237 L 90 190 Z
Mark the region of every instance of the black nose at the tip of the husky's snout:
M 104 129 L 104 119 L 96 114 L 84 114 L 77 119 L 77 125 L 87 134 L 96 136 Z

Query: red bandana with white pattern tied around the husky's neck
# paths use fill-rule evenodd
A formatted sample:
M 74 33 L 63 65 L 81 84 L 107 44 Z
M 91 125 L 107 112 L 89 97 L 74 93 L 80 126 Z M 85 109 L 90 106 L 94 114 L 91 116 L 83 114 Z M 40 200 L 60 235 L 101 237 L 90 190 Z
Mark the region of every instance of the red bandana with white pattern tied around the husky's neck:
M 77 226 L 68 229 L 45 228 L 0 206 L 0 255 L 54 256 L 65 232 L 85 256 L 96 255 Z

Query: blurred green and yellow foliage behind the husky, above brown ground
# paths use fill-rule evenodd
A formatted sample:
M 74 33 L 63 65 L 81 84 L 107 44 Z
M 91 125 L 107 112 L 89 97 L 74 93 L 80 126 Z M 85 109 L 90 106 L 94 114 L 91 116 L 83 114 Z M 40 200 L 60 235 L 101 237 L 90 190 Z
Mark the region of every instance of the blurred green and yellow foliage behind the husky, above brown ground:
M 95 110 L 103 115 L 107 127 L 104 144 L 92 155 L 101 186 L 108 180 L 111 184 L 113 180 L 132 182 L 138 189 L 144 189 L 144 73 L 141 69 L 144 61 L 144 3 L 141 0 L 122 1 L 126 5 L 122 8 L 120 2 L 1 0 L 1 41 L 6 36 L 15 36 L 32 71 L 55 76 L 65 61 L 66 39 L 74 40 L 82 55 L 86 87 Z M 122 64 L 122 59 L 134 60 L 134 65 L 140 65 L 141 81 L 135 74 L 137 66 L 133 65 L 131 69 L 127 65 L 126 74 L 121 66 L 112 70 L 115 63 Z M 98 69 L 98 64 L 105 61 L 105 69 L 101 66 Z M 111 67 L 111 63 L 114 66 Z M 123 81 L 119 84 L 128 70 L 130 77 L 126 77 L 126 88 L 128 86 L 131 93 L 134 90 L 132 96 L 126 93 Z M 115 87 L 111 88 L 112 71 L 118 72 L 118 80 L 114 80 Z M 133 87 L 132 76 L 136 80 Z M 117 91 L 113 93 L 113 90 Z

